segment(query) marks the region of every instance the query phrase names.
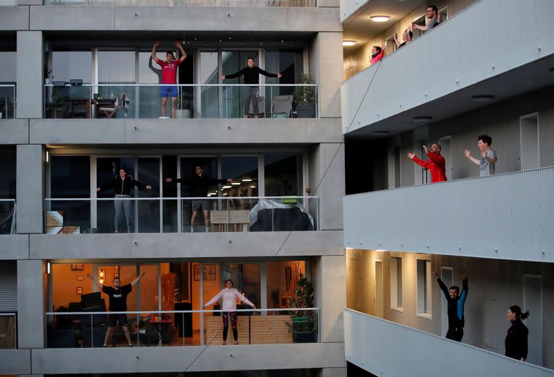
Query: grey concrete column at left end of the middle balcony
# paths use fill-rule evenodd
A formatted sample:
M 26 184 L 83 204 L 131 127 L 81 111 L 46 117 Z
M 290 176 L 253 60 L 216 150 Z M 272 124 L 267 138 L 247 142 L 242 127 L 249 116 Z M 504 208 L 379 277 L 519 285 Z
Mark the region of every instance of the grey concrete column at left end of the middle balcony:
M 44 233 L 42 146 L 17 146 L 17 233 Z

